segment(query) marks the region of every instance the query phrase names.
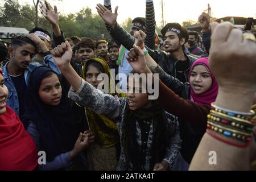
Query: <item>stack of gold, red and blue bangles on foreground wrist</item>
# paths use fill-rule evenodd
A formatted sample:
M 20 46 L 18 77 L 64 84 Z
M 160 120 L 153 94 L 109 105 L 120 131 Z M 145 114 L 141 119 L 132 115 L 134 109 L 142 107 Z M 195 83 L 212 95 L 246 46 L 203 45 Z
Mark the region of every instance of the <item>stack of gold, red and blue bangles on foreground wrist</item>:
M 247 147 L 251 141 L 252 130 L 255 126 L 253 119 L 255 113 L 253 110 L 250 113 L 242 113 L 232 111 L 212 104 L 213 109 L 207 115 L 207 133 L 213 138 L 221 140 L 228 144 L 238 147 Z M 231 142 L 224 138 L 220 138 L 214 133 L 225 135 L 240 141 L 239 143 Z

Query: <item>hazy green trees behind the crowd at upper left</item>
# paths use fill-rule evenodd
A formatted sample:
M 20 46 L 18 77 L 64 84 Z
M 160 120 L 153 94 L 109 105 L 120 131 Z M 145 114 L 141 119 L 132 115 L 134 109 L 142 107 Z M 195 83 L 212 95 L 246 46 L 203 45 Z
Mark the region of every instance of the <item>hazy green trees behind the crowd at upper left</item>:
M 36 11 L 39 8 L 39 1 L 33 0 L 33 2 L 34 5 L 31 6 L 20 5 L 17 0 L 5 0 L 2 6 L 0 6 L 0 26 L 26 28 L 28 31 L 38 26 L 52 32 L 52 27 L 48 20 L 40 12 Z M 100 15 L 93 14 L 92 9 L 89 7 L 84 7 L 78 13 L 67 15 L 59 13 L 59 18 L 60 29 L 66 37 L 76 35 L 98 39 L 104 35 L 105 39 L 110 39 L 104 21 Z M 121 23 L 121 26 L 125 30 L 130 31 L 131 21 L 131 18 L 127 18 Z M 156 30 L 160 33 L 159 27 L 156 27 Z

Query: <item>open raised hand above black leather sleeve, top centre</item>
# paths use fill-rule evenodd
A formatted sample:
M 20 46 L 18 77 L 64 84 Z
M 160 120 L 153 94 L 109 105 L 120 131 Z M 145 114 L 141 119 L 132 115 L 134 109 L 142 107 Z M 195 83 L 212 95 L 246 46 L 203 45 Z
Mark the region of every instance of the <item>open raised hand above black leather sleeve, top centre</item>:
M 118 6 L 115 7 L 115 13 L 112 13 L 109 11 L 105 6 L 101 4 L 97 4 L 96 7 L 98 14 L 101 16 L 101 18 L 104 20 L 105 23 L 109 24 L 109 26 L 114 27 L 117 23 L 117 10 Z

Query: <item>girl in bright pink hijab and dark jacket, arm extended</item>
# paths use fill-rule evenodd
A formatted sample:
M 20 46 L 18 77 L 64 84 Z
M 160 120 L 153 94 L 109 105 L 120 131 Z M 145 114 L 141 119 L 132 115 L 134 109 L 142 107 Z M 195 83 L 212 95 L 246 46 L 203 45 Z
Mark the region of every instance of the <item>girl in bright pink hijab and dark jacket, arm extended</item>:
M 188 75 L 189 83 L 183 83 L 177 78 L 167 75 L 159 65 L 155 68 L 154 72 L 159 73 L 160 80 L 185 100 L 191 100 L 197 105 L 207 105 L 207 107 L 210 107 L 210 104 L 216 100 L 218 84 L 213 73 L 210 71 L 208 57 L 200 58 L 192 64 Z M 164 101 L 169 100 L 169 98 L 159 93 L 159 99 L 160 97 L 164 98 Z M 160 100 L 162 101 L 163 99 Z M 177 103 L 168 102 L 168 107 L 169 109 L 175 108 L 176 110 L 172 114 L 179 118 L 180 136 L 182 139 L 181 155 L 177 157 L 173 170 L 187 170 L 196 148 L 206 131 L 207 122 L 198 122 L 196 117 L 187 117 L 187 114 L 184 113 L 190 112 L 189 105 L 177 108 Z

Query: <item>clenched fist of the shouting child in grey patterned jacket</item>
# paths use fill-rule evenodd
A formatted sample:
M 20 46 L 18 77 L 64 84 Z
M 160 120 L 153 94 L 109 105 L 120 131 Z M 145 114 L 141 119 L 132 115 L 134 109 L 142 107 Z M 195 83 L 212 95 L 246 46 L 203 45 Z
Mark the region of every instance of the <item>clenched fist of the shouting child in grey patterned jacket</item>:
M 53 59 L 56 65 L 60 69 L 63 69 L 70 64 L 70 61 L 72 58 L 72 48 L 68 43 L 68 41 L 66 41 L 65 43 L 61 43 L 61 45 L 52 49 L 51 54 L 53 56 Z

